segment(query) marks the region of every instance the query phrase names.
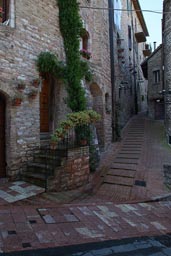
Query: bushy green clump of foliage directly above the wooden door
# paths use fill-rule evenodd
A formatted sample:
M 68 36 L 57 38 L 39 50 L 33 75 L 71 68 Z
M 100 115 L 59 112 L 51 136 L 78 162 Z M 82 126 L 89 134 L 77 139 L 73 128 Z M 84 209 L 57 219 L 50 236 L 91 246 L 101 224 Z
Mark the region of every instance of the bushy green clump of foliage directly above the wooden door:
M 65 79 L 66 67 L 57 56 L 51 52 L 41 52 L 36 60 L 36 66 L 40 73 L 51 75 L 57 78 Z

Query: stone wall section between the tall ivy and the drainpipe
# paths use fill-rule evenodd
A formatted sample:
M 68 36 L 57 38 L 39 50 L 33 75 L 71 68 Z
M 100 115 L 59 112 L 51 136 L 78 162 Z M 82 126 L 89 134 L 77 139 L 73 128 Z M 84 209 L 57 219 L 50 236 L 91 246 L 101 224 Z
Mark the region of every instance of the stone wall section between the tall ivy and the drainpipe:
M 106 93 L 110 95 L 109 104 L 111 105 L 108 11 L 103 9 L 89 9 L 89 6 L 107 8 L 108 0 L 81 0 L 79 2 L 83 24 L 89 33 L 88 50 L 92 53 L 89 63 L 94 73 L 93 81 L 87 83 L 86 88 L 90 92 L 91 107 L 102 116 L 102 121 L 97 124 L 99 144 L 102 148 L 107 148 L 112 141 L 112 113 L 107 113 L 105 109 Z

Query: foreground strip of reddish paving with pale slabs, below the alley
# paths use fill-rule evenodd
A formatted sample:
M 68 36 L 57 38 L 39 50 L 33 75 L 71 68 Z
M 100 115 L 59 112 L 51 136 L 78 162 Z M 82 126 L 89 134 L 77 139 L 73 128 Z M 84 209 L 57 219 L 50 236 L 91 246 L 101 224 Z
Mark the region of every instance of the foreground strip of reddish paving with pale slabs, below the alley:
M 171 232 L 171 202 L 1 206 L 0 252 Z

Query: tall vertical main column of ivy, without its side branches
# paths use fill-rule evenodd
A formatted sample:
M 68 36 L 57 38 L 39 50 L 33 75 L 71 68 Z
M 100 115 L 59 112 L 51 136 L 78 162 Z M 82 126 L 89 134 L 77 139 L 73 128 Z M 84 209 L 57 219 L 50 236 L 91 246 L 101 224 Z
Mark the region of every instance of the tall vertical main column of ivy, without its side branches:
M 59 7 L 59 24 L 66 53 L 68 106 L 72 111 L 86 109 L 85 91 L 81 87 L 83 76 L 79 52 L 79 38 L 83 26 L 77 0 L 56 0 Z

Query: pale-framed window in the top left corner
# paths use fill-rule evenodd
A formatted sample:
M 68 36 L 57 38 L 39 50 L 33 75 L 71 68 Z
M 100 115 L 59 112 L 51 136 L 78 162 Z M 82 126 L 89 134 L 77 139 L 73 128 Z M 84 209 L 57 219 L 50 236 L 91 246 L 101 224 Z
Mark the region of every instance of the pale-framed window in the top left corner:
M 0 22 L 4 26 L 15 27 L 15 0 L 0 0 L 0 7 L 2 10 L 2 21 Z

